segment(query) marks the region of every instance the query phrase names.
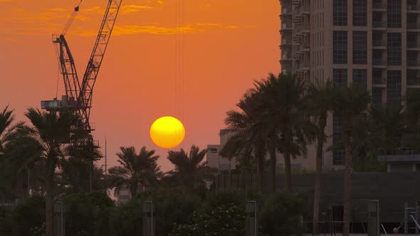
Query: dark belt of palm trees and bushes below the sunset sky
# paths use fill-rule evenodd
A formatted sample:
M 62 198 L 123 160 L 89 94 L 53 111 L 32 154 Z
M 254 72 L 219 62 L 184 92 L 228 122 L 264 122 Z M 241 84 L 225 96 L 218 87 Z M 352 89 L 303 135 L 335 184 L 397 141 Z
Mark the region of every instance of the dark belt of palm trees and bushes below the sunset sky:
M 78 117 L 66 112 L 30 108 L 28 124 L 16 122 L 14 110 L 0 112 L 0 229 L 6 235 L 52 235 L 53 204 L 65 205 L 68 235 L 142 235 L 142 209 L 155 203 L 156 235 L 243 235 L 246 200 L 258 202 L 258 231 L 264 235 L 303 232 L 301 217 L 312 213 L 313 234 L 319 234 L 322 156 L 345 151 L 344 233 L 349 234 L 352 171 L 384 171 L 380 154 L 420 151 L 420 92 L 411 91 L 402 104 L 372 104 L 359 85 L 336 86 L 330 80 L 308 83 L 290 75 L 269 74 L 255 81 L 227 112 L 229 140 L 220 155 L 238 160 L 236 173 L 257 173 L 257 190 L 220 193 L 216 171 L 207 166 L 206 149 L 169 151 L 174 169 L 162 173 L 159 156 L 145 146 L 120 148 L 120 166 L 104 173 L 91 137 L 75 128 Z M 330 114 L 342 128 L 332 146 L 325 129 Z M 87 141 L 83 145 L 76 139 Z M 315 144 L 313 211 L 308 195 L 292 193 L 290 161 L 305 156 Z M 285 193 L 276 193 L 278 156 L 285 163 Z M 269 172 L 271 193 L 264 173 Z M 231 173 L 231 171 L 229 171 Z M 130 191 L 115 205 L 107 193 Z M 311 205 L 312 206 L 312 205 Z

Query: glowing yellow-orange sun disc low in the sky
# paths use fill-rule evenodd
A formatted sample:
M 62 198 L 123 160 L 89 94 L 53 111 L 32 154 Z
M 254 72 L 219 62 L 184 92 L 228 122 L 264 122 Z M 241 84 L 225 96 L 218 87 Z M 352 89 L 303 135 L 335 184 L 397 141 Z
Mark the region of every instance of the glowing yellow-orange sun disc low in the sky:
M 150 126 L 150 138 L 159 147 L 172 149 L 182 143 L 184 124 L 174 117 L 160 117 Z

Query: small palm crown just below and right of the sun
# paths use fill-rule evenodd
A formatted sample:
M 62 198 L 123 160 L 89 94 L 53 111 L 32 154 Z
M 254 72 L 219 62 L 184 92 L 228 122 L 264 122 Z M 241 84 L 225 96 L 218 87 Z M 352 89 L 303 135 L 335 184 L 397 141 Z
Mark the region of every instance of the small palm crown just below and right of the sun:
M 200 151 L 198 146 L 191 146 L 189 154 L 181 149 L 180 151 L 169 151 L 168 160 L 174 164 L 175 169 L 169 175 L 174 176 L 178 183 L 189 190 L 204 185 L 208 178 L 207 162 L 203 161 L 206 156 L 206 149 Z

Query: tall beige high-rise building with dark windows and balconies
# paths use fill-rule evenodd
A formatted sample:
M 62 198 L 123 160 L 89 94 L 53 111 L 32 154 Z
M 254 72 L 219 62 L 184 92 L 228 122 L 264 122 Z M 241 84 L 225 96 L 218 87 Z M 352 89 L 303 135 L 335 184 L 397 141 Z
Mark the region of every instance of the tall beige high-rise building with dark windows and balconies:
M 357 82 L 372 91 L 376 104 L 401 102 L 406 92 L 420 88 L 419 0 L 280 0 L 280 5 L 283 73 L 330 78 L 335 85 Z M 330 118 L 327 133 L 340 135 L 337 117 Z M 325 154 L 324 166 L 343 164 L 344 151 Z

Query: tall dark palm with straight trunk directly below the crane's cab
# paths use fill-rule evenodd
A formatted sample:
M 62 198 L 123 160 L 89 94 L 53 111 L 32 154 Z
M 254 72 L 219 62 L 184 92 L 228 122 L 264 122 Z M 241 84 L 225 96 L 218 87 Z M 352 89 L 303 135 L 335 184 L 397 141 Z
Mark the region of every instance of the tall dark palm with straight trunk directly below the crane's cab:
M 13 141 L 15 150 L 26 150 L 26 162 L 42 160 L 45 163 L 46 183 L 46 235 L 53 235 L 53 188 L 59 159 L 65 157 L 64 149 L 70 141 L 70 127 L 75 114 L 41 112 L 29 108 L 26 117 L 32 127 L 23 126 L 16 131 Z

